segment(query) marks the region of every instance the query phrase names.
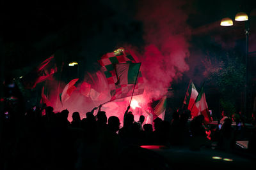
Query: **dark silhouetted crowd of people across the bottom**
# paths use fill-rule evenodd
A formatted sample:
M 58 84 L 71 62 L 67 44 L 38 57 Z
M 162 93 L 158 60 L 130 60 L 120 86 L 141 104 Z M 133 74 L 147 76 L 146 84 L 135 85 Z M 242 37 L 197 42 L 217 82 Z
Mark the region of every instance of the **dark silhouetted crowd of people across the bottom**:
M 118 117 L 108 118 L 101 106 L 94 113 L 96 109 L 83 119 L 79 112 L 72 113 L 72 122 L 68 110 L 54 113 L 51 106 L 31 108 L 16 121 L 5 112 L 1 116 L 0 169 L 122 169 L 132 164 L 125 161 L 125 154 L 141 145 L 200 150 L 216 143 L 216 149 L 230 152 L 241 134 L 241 129 L 232 126 L 232 118 L 223 119 L 220 128 L 204 125 L 202 115 L 191 120 L 189 110 L 173 112 L 171 121 L 155 118 L 153 124 L 145 124 L 143 115 L 134 121 L 128 107 L 121 126 Z M 252 154 L 256 152 L 255 127 L 248 145 Z

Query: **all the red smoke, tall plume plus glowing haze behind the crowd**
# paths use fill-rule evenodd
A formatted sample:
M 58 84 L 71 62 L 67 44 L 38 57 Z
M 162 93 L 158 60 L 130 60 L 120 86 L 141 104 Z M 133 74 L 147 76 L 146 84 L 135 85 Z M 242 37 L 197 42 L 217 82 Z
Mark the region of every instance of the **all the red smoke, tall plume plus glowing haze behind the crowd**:
M 132 99 L 138 101 L 139 106 L 132 110 L 136 121 L 138 121 L 141 113 L 147 116 L 148 112 L 152 111 L 152 108 L 148 105 L 152 99 L 161 99 L 166 94 L 172 81 L 182 76 L 182 73 L 189 69 L 188 64 L 186 64 L 186 57 L 189 57 L 188 40 L 190 31 L 186 24 L 188 15 L 182 10 L 184 3 L 154 0 L 140 2 L 136 18 L 143 22 L 145 46 L 138 49 L 136 46 L 124 45 L 125 48 L 131 50 L 132 56 L 138 62 L 141 62 L 141 73 L 145 82 L 144 94 L 132 97 Z M 106 82 L 99 81 L 97 85 L 105 87 Z M 60 89 L 63 90 L 64 86 L 61 85 Z M 58 97 L 56 97 L 56 94 L 53 96 L 52 99 L 56 103 Z M 105 101 L 109 100 L 108 97 L 105 98 Z M 130 99 L 131 97 L 127 97 L 104 104 L 102 110 L 106 111 L 108 117 L 115 115 L 122 122 L 124 111 L 129 105 Z M 92 101 L 88 97 L 84 97 L 79 93 L 78 88 L 67 103 L 61 105 L 58 102 L 54 108 L 56 111 L 68 108 L 70 111 L 69 120 L 71 121 L 74 111 L 79 111 L 81 118 L 83 118 L 87 111 L 102 103 L 104 103 L 103 100 Z M 150 123 L 147 117 L 145 120 Z

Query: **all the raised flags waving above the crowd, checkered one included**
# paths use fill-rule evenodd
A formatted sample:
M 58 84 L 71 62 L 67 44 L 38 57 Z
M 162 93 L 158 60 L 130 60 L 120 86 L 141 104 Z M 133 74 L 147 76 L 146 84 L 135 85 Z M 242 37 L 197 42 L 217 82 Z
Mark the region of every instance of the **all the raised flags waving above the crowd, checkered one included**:
M 90 97 L 93 101 L 104 101 L 108 91 L 111 96 L 109 101 L 115 101 L 116 99 L 143 94 L 144 83 L 140 71 L 141 63 L 136 62 L 128 50 L 119 48 L 115 52 L 106 53 L 98 62 L 102 69 L 95 75 L 97 75 L 99 81 L 105 80 L 108 85 L 104 85 L 104 89 L 98 92 L 97 89 L 92 88 L 90 83 L 83 81 L 79 86 L 79 92 L 83 96 Z M 47 80 L 49 76 L 56 72 L 57 67 L 54 63 L 54 55 L 52 55 L 20 81 L 26 89 L 33 89 L 36 84 Z M 78 80 L 78 78 L 71 80 L 59 94 L 61 104 L 68 101 L 72 92 L 77 89 L 76 83 Z M 44 94 L 44 87 L 42 89 L 41 102 L 47 104 L 47 106 L 51 105 L 51 102 Z M 212 121 L 205 99 L 204 85 L 198 92 L 193 81 L 190 81 L 183 104 L 191 111 L 191 118 L 204 115 L 206 123 Z M 164 120 L 165 110 L 166 96 L 163 96 L 152 112 L 153 115 Z M 145 113 L 147 113 L 147 118 L 150 118 L 150 122 L 152 122 L 152 113 L 150 111 L 145 111 Z

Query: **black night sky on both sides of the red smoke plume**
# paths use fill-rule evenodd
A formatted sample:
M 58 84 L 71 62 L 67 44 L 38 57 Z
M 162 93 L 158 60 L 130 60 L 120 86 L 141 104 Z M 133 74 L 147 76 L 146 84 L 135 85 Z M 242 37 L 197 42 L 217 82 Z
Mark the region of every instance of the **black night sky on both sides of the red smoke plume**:
M 172 1 L 170 4 L 175 6 L 178 2 Z M 253 1 L 209 2 L 198 0 L 182 2 L 184 4 L 179 8 L 182 8 L 180 10 L 188 15 L 186 22 L 192 32 L 196 31 L 198 27 L 211 25 L 214 22 L 219 23 L 223 17 L 234 18 L 237 11 L 248 12 L 255 9 Z M 136 18 L 136 14 L 145 3 L 147 1 L 111 0 L 76 1 L 76 3 L 74 1 L 61 3 L 4 1 L 2 39 L 3 55 L 8 59 L 6 66 L 12 66 L 15 69 L 26 67 L 38 60 L 45 59 L 60 48 L 69 49 L 67 51 L 70 53 L 67 55 L 76 58 L 83 55 L 79 52 L 87 51 L 90 55 L 90 53 L 95 53 L 96 48 L 98 50 L 100 48 L 101 53 L 106 53 L 122 43 L 143 45 L 143 23 Z M 159 4 L 161 3 L 162 1 L 159 1 Z M 108 32 L 105 27 L 111 27 L 109 29 L 113 30 Z M 113 32 L 115 33 L 113 34 Z M 85 39 L 92 41 L 105 39 L 104 37 L 99 38 L 99 34 L 103 34 L 105 38 L 108 38 L 108 34 L 112 34 L 110 35 L 112 41 L 99 42 L 98 46 L 83 49 L 88 44 Z M 210 34 L 212 34 L 212 30 L 198 33 L 196 36 L 210 36 Z M 217 34 L 225 33 L 218 28 Z M 97 55 L 101 55 L 101 53 L 95 54 L 93 58 L 99 57 Z

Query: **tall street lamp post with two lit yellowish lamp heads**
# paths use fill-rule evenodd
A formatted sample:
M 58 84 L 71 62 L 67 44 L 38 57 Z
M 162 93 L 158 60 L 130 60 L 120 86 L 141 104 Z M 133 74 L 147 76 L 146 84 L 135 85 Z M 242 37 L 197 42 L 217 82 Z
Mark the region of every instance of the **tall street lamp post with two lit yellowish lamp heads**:
M 236 21 L 245 21 L 245 83 L 244 83 L 244 115 L 248 116 L 247 113 L 247 91 L 248 91 L 248 36 L 249 36 L 249 23 L 248 15 L 244 12 L 237 13 L 235 17 Z M 220 23 L 221 26 L 231 26 L 233 21 L 230 18 L 223 18 Z

